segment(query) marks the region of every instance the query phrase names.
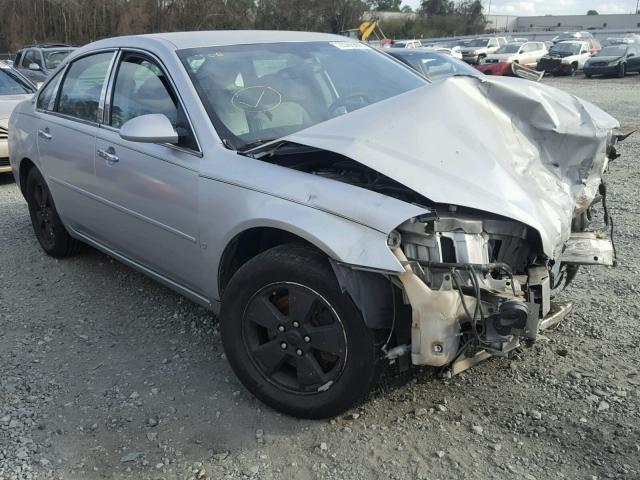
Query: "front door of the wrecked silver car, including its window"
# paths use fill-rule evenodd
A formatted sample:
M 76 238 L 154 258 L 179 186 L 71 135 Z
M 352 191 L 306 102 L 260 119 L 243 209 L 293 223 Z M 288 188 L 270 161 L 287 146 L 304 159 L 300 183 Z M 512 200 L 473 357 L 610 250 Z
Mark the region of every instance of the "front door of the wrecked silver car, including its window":
M 93 230 L 127 258 L 199 293 L 198 174 L 201 153 L 170 77 L 154 58 L 123 52 L 97 134 Z M 176 145 L 124 140 L 119 129 L 145 114 L 163 114 Z

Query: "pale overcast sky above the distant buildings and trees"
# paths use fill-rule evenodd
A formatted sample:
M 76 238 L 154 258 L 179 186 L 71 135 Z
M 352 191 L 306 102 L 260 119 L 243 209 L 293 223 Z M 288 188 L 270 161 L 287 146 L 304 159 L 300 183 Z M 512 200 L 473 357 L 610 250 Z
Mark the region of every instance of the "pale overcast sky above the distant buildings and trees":
M 403 0 L 416 8 L 420 0 Z M 488 13 L 489 0 L 483 0 L 484 13 Z M 598 13 L 632 13 L 636 0 L 491 0 L 492 14 L 505 15 L 584 15 L 594 9 Z

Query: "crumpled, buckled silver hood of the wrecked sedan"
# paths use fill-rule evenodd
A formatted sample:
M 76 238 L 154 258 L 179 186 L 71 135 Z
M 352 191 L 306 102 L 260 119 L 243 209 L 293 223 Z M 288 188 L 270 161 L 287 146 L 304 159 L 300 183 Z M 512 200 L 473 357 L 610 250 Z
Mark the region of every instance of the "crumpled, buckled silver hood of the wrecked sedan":
M 538 83 L 452 77 L 285 140 L 339 153 L 436 203 L 521 221 L 558 258 L 575 206 L 590 203 L 618 122 Z

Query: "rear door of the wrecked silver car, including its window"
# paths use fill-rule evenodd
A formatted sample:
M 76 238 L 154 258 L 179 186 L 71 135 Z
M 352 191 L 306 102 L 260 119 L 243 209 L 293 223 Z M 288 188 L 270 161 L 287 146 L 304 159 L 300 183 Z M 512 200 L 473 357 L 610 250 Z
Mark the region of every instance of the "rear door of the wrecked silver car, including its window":
M 83 233 L 90 232 L 96 213 L 95 137 L 114 55 L 99 52 L 73 61 L 38 96 L 41 169 L 63 220 Z

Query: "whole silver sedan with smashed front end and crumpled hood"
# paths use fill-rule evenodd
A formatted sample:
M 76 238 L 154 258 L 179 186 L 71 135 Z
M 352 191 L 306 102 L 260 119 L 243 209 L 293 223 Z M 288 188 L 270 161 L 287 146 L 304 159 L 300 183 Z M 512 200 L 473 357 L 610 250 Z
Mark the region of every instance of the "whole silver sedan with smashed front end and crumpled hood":
M 47 253 L 92 245 L 218 312 L 244 385 L 320 418 L 390 363 L 456 373 L 566 315 L 578 266 L 615 262 L 590 222 L 617 126 L 344 37 L 169 33 L 75 51 L 10 151 Z

